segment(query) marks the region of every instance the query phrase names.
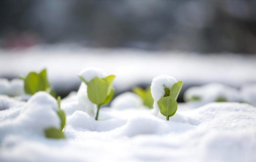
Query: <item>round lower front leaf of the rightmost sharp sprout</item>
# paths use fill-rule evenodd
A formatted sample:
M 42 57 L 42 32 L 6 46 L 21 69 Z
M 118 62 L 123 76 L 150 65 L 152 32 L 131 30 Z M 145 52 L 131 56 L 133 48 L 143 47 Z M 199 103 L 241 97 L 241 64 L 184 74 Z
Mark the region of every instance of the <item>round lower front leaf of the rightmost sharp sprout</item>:
M 174 115 L 178 107 L 177 101 L 171 96 L 160 98 L 157 104 L 164 116 Z

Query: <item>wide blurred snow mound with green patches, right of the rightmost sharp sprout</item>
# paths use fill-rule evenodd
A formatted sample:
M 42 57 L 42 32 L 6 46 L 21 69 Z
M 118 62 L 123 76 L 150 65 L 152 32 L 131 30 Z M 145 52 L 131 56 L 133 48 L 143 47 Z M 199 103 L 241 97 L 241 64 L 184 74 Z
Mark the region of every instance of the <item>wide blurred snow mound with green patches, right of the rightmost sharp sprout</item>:
M 192 102 L 195 106 L 216 101 L 241 102 L 240 92 L 236 88 L 220 83 L 211 83 L 204 86 L 188 88 L 184 93 L 184 100 Z

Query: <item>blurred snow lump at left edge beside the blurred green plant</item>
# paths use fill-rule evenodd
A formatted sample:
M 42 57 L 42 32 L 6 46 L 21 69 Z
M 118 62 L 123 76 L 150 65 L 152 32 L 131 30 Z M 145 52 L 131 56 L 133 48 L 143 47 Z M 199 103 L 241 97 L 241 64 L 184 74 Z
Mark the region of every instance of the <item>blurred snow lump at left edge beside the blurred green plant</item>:
M 24 81 L 21 79 L 8 80 L 0 78 L 0 94 L 20 96 L 24 94 Z

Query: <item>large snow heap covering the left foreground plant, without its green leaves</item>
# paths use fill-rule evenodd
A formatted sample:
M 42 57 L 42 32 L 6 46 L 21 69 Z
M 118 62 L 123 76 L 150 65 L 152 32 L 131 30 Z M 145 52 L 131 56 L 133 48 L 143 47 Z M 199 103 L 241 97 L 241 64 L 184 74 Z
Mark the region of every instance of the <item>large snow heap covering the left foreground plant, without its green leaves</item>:
M 0 140 L 6 134 L 39 134 L 50 127 L 60 129 L 60 118 L 56 113 L 58 104 L 55 98 L 46 92 L 37 92 L 22 107 L 20 114 L 0 124 Z

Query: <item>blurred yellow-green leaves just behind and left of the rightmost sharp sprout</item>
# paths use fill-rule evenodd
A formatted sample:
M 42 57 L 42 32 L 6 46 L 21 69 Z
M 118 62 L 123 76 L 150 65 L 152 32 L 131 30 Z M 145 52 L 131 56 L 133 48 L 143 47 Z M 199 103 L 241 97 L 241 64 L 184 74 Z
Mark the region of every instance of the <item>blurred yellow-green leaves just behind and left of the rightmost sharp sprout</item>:
M 143 101 L 143 104 L 148 108 L 153 108 L 154 99 L 151 94 L 150 87 L 146 88 L 145 90 L 140 87 L 134 87 L 132 91 L 138 94 Z

